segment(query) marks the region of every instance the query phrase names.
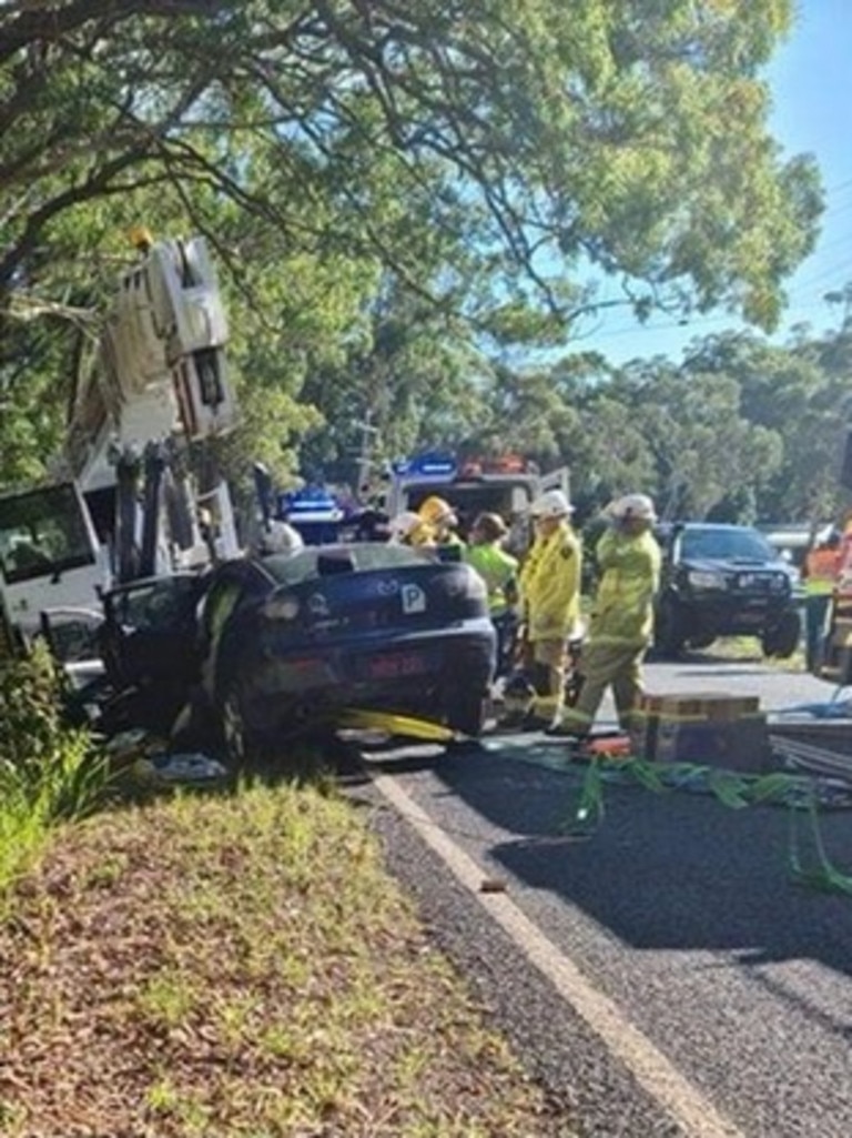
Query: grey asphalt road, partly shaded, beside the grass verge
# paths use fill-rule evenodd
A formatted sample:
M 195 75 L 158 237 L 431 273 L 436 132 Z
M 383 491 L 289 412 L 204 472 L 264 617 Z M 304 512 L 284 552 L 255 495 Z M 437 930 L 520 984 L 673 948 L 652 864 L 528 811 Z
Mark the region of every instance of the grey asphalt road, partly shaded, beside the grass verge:
M 651 665 L 647 679 L 655 692 L 759 695 L 770 711 L 833 694 L 711 657 Z M 566 824 L 584 769 L 564 756 L 540 736 L 455 754 L 372 750 L 351 793 L 441 947 L 561 1104 L 565 1133 L 849 1138 L 852 897 L 793 881 L 791 811 L 614 784 L 578 840 Z M 821 832 L 852 869 L 852 810 L 825 814 Z

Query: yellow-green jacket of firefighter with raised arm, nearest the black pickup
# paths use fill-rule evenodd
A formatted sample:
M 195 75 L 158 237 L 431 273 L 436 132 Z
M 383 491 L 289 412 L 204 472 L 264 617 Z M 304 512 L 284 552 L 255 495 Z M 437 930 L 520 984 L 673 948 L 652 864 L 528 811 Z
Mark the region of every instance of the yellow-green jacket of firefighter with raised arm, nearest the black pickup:
M 589 621 L 589 641 L 643 648 L 654 632 L 654 595 L 660 587 L 660 546 L 651 533 L 609 529 L 595 558 L 601 582 Z

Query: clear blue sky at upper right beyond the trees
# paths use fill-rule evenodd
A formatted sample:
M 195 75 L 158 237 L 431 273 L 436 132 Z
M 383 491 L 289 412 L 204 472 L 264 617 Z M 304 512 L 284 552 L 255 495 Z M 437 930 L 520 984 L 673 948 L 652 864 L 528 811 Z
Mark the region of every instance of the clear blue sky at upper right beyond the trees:
M 766 77 L 772 91 L 772 134 L 786 155 L 814 155 L 826 193 L 817 248 L 792 277 L 783 331 L 808 322 L 835 327 L 837 312 L 822 296 L 852 281 L 852 2 L 799 0 L 792 34 L 778 49 Z M 613 363 L 668 355 L 679 360 L 689 340 L 739 327 L 726 313 L 697 316 L 679 327 L 670 316 L 647 325 L 614 310 L 578 346 L 597 349 Z

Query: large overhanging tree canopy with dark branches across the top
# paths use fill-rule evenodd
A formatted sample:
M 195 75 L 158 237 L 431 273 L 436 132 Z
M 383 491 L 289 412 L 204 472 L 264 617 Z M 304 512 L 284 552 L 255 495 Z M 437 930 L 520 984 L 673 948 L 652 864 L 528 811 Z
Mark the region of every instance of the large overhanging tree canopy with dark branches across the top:
M 771 327 L 820 208 L 767 132 L 791 19 L 791 0 L 8 0 L 0 319 L 91 297 L 144 209 L 206 232 L 270 355 L 306 371 L 362 333 L 386 273 L 485 344 L 564 341 L 611 303 L 589 270 L 639 312 Z M 276 262 L 355 287 L 312 321 L 300 280 L 266 283 Z

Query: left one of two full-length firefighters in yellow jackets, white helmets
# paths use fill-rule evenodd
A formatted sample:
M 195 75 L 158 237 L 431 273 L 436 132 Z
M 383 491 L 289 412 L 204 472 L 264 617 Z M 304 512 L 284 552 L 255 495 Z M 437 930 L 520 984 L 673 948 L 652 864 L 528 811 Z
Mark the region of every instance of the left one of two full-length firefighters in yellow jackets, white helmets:
M 521 607 L 529 681 L 535 690 L 524 726 L 549 726 L 562 710 L 568 640 L 580 619 L 581 547 L 573 506 L 547 490 L 531 511 L 536 537 L 521 568 Z

